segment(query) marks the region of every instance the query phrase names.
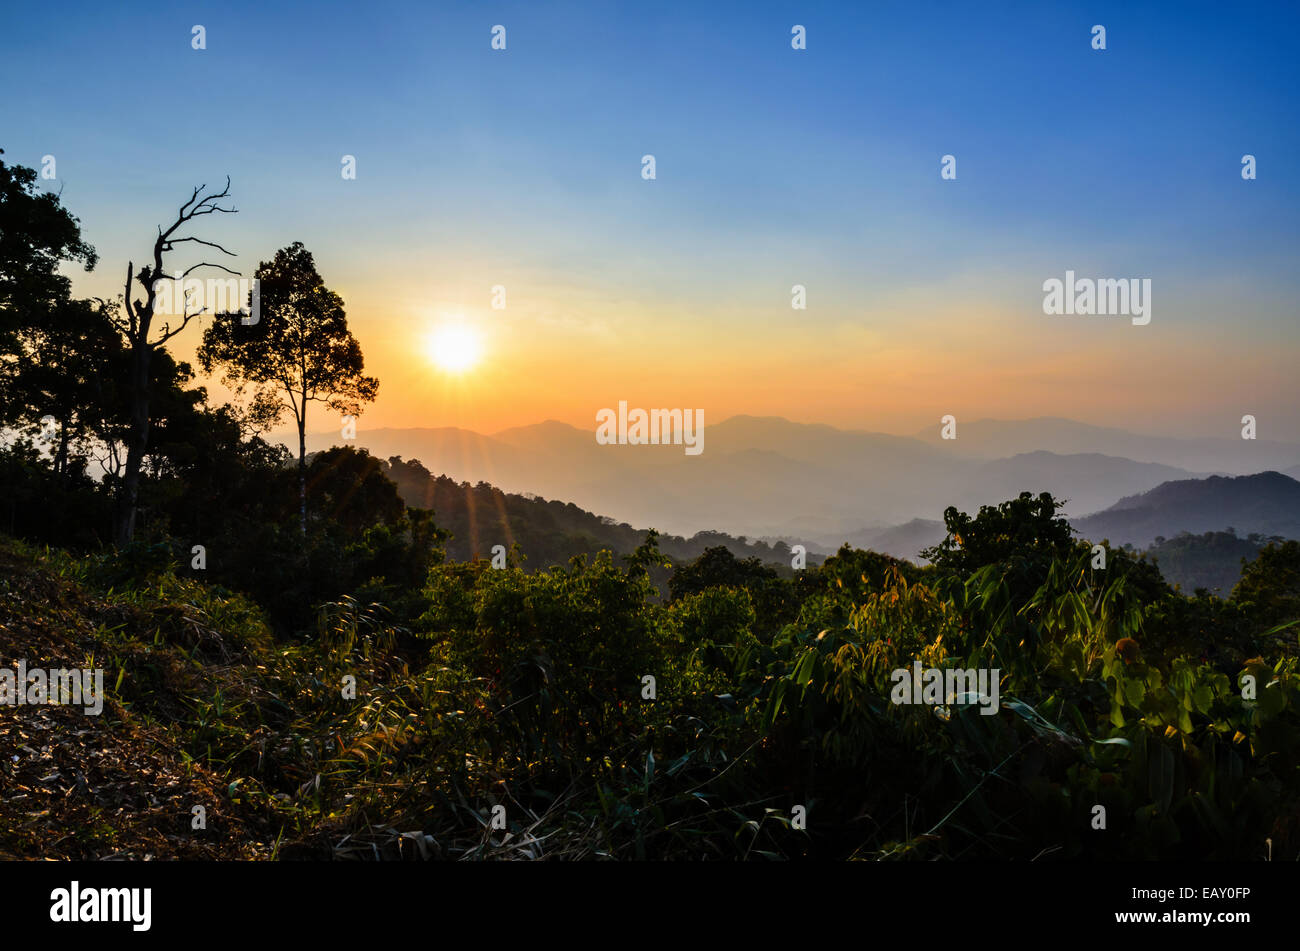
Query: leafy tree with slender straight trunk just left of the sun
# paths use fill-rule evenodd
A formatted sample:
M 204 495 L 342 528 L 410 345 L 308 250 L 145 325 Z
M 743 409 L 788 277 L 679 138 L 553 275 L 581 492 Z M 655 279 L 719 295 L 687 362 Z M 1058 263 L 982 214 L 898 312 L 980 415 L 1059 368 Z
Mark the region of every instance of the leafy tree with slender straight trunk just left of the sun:
M 361 346 L 347 329 L 343 299 L 325 286 L 312 255 L 295 242 L 257 268 L 260 320 L 246 325 L 239 314 L 221 314 L 203 335 L 199 362 L 222 366 L 222 382 L 234 392 L 254 388 L 254 401 L 274 400 L 298 425 L 298 501 L 307 535 L 307 405 L 324 403 L 339 413 L 359 414 L 374 399 L 380 381 L 363 374 Z

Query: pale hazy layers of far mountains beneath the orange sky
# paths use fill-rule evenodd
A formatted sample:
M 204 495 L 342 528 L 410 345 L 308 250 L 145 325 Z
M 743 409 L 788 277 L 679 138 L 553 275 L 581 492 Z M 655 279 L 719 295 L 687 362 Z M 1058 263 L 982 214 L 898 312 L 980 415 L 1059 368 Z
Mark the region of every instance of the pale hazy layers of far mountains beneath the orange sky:
M 456 481 L 572 501 L 685 537 L 711 529 L 823 551 L 845 540 L 875 542 L 900 553 L 928 537 L 948 505 L 974 511 L 1020 491 L 1048 491 L 1067 500 L 1072 522 L 1105 526 L 1119 543 L 1123 517 L 1086 516 L 1167 482 L 1266 470 L 1300 474 L 1300 446 L 1245 440 L 1231 431 L 1178 439 L 1044 417 L 959 422 L 958 438 L 945 440 L 937 424 L 901 437 L 736 416 L 706 425 L 703 453 L 688 456 L 681 446 L 601 446 L 594 424 L 578 429 L 546 421 L 484 435 L 454 427 L 365 430 L 363 420 L 347 444 L 384 459 L 420 460 Z M 334 444 L 344 444 L 337 431 L 308 435 L 308 451 Z M 1186 530 L 1288 530 L 1264 526 L 1266 509 L 1261 503 L 1257 518 L 1223 525 L 1210 525 L 1214 516 L 1204 513 Z M 1147 527 L 1134 529 L 1135 543 L 1148 533 L 1179 530 L 1143 517 Z

